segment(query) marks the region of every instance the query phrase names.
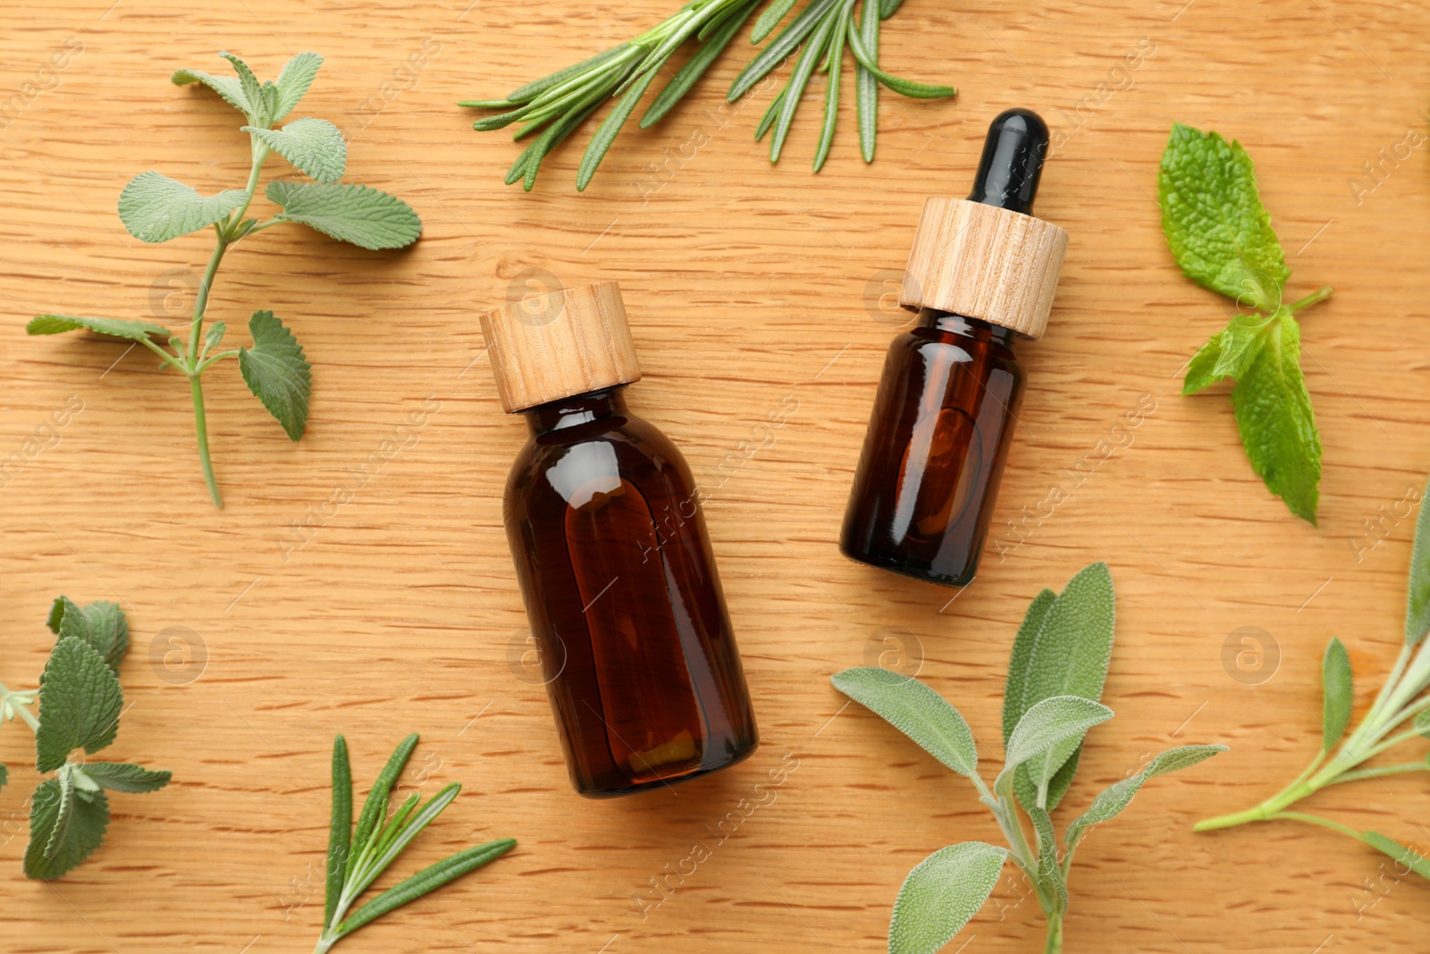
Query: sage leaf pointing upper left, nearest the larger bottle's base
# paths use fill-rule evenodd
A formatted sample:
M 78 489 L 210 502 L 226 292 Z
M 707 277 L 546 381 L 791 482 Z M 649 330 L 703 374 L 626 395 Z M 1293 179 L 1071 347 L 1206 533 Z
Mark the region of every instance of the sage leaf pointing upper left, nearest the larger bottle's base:
M 861 667 L 837 672 L 829 681 L 960 775 L 971 777 L 978 769 L 978 748 L 968 722 L 918 679 Z

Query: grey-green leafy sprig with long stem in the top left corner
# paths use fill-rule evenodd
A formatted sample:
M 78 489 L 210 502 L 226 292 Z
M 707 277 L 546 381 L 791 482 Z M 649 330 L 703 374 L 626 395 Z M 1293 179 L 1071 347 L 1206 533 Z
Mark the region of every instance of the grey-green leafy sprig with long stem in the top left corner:
M 235 76 L 174 70 L 170 80 L 176 86 L 207 86 L 243 113 L 247 122 L 239 129 L 249 134 L 252 157 L 247 183 L 242 189 L 204 196 L 193 186 L 169 176 L 144 172 L 134 176 L 119 196 L 119 217 L 129 233 L 142 242 L 169 242 L 207 227 L 214 232 L 217 242 L 199 282 L 187 340 L 172 336 L 163 325 L 112 318 L 39 315 L 26 326 L 30 335 L 87 329 L 133 340 L 159 355 L 163 362 L 160 366 L 184 375 L 193 398 L 199 459 L 214 506 L 223 506 L 223 498 L 209 453 L 209 426 L 200 385 L 203 372 L 223 359 L 237 359 L 243 382 L 292 441 L 303 436 L 310 398 L 310 368 L 303 348 L 273 312 L 253 312 L 249 319 L 252 348 L 217 350 L 226 330 L 223 322 L 216 322 L 204 333 L 209 292 L 225 253 L 247 236 L 285 223 L 306 225 L 365 249 L 399 249 L 416 242 L 422 233 L 418 213 L 400 199 L 369 186 L 337 185 L 347 164 L 347 144 L 336 126 L 323 119 L 302 117 L 275 129 L 275 123 L 285 119 L 303 99 L 323 57 L 299 53 L 287 62 L 276 82 L 260 82 L 239 57 L 232 53 L 219 56 L 229 62 Z M 313 182 L 270 182 L 266 195 L 280 212 L 269 219 L 246 217 L 257 192 L 263 163 L 270 153 L 277 153 Z

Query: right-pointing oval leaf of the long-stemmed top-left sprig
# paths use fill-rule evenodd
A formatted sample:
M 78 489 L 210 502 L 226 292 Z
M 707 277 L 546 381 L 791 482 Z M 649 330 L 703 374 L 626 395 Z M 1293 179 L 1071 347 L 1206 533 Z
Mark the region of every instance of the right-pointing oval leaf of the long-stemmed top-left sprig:
M 283 206 L 277 219 L 365 249 L 400 249 L 422 235 L 422 220 L 408 203 L 369 186 L 276 179 L 267 197 Z

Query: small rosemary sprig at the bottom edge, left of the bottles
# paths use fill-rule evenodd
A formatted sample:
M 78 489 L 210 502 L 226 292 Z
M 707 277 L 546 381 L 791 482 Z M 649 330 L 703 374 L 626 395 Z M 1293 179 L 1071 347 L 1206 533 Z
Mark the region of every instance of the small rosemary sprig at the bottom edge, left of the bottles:
M 462 791 L 462 785 L 452 782 L 425 805 L 420 795 L 412 792 L 389 818 L 388 801 L 392 787 L 416 747 L 416 732 L 402 739 L 373 782 L 372 791 L 368 792 L 358 825 L 353 827 L 353 778 L 347 762 L 347 741 L 342 735 L 333 739 L 333 814 L 327 840 L 327 891 L 323 933 L 313 947 L 313 954 L 325 954 L 358 928 L 372 924 L 409 901 L 416 901 L 429 891 L 436 891 L 468 871 L 496 861 L 516 847 L 515 838 L 499 838 L 459 851 L 388 888 L 349 914 L 372 882 Z

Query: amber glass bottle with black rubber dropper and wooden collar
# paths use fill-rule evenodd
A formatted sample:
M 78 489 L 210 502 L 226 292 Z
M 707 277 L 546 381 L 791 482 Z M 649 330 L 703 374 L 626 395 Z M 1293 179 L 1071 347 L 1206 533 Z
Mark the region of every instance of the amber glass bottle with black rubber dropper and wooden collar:
M 930 199 L 899 305 L 839 549 L 950 586 L 978 569 L 1022 372 L 1014 339 L 1042 335 L 1067 232 L 1035 219 L 1048 127 L 1025 109 L 988 127 L 968 199 Z

